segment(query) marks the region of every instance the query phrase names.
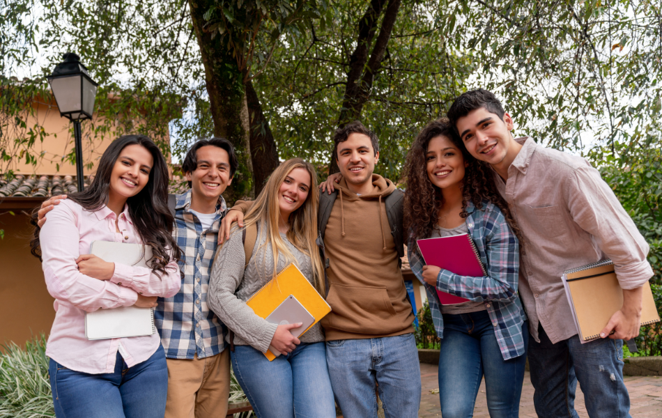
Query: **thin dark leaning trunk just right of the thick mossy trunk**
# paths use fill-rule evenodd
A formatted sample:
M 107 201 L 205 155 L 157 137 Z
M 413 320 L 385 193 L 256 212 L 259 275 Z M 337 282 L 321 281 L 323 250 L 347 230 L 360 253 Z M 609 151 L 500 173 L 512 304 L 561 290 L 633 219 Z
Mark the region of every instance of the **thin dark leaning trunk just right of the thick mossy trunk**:
M 269 122 L 264 117 L 262 106 L 253 83 L 245 84 L 246 100 L 250 116 L 250 150 L 253 164 L 253 184 L 255 196 L 264 187 L 271 173 L 278 167 L 278 150 Z

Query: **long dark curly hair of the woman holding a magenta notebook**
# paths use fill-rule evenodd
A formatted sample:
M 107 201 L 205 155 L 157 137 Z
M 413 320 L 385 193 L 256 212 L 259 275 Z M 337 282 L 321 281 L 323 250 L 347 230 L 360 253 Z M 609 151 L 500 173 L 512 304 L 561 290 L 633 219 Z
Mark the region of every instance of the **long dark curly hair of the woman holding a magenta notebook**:
M 439 187 L 432 184 L 426 170 L 426 153 L 431 139 L 447 137 L 461 151 L 468 166 L 465 169 L 462 185 L 461 217 L 468 216 L 467 204 L 471 201 L 481 209 L 484 201 L 491 201 L 503 213 L 510 228 L 519 240 L 520 231 L 511 217 L 506 201 L 494 184 L 492 169 L 485 162 L 476 160 L 467 151 L 447 118 L 432 121 L 418 134 L 407 154 L 403 170 L 403 181 L 407 185 L 404 201 L 405 225 L 414 231 L 416 239 L 429 238 L 437 223 L 438 212 L 444 203 Z

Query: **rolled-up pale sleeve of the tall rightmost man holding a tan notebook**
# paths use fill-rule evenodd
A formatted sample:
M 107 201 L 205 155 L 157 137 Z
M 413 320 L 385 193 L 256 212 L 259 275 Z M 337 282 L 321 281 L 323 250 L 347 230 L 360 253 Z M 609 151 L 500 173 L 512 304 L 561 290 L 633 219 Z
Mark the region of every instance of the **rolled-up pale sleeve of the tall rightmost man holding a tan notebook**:
M 598 247 L 614 262 L 623 289 L 638 288 L 653 276 L 649 245 L 599 171 L 587 165 L 575 169 L 564 193 L 574 221 L 594 236 Z

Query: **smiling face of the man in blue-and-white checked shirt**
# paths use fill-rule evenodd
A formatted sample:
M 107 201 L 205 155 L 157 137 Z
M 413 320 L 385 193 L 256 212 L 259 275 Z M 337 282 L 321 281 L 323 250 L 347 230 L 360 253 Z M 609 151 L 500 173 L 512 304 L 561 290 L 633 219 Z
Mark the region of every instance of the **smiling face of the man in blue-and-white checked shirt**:
M 196 151 L 198 165 L 186 173 L 191 182 L 193 200 L 217 201 L 218 197 L 232 183 L 230 177 L 230 156 L 223 148 L 208 145 Z

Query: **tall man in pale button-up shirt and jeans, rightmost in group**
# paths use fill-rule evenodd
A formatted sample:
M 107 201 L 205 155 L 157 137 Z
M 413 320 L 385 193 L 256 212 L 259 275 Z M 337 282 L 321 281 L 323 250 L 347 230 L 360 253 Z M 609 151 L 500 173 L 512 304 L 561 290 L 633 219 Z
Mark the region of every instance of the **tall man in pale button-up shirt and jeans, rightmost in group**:
M 491 164 L 522 231 L 519 289 L 532 336 L 528 356 L 538 416 L 578 417 L 579 381 L 590 417 L 630 417 L 622 346 L 639 335 L 642 285 L 653 275 L 646 241 L 587 160 L 530 137 L 514 139 L 512 118 L 492 93 L 464 93 L 448 117 L 469 153 Z M 603 258 L 615 264 L 624 303 L 602 339 L 582 344 L 561 275 Z

